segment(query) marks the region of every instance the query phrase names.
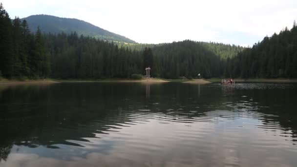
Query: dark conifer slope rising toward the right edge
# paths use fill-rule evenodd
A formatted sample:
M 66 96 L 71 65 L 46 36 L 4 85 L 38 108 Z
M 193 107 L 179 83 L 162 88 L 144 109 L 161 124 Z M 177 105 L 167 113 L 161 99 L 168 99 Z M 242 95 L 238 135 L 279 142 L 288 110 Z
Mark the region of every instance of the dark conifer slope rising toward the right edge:
M 226 73 L 240 78 L 297 78 L 297 25 L 265 37 L 227 62 Z

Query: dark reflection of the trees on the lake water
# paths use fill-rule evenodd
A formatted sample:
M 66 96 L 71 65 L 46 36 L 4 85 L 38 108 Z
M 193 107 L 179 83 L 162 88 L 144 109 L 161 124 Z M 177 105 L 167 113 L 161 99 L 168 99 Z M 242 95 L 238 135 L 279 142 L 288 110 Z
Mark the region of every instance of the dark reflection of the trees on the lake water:
M 208 111 L 239 110 L 248 106 L 240 106 L 240 101 L 251 104 L 246 110 L 277 115 L 274 121 L 284 129 L 291 129 L 293 137 L 296 137 L 296 95 L 290 91 L 176 83 L 132 86 L 87 83 L 1 88 L 0 131 L 5 137 L 0 138 L 0 159 L 7 158 L 13 145 L 80 146 L 67 141 L 87 142 L 85 138 L 94 138 L 96 133 L 108 133 L 113 126 L 131 122 L 130 114 L 146 114 L 141 109 L 163 114 L 170 118 L 169 121 L 179 121 L 171 119 L 174 117 L 195 121 Z M 232 107 L 224 104 L 226 102 L 238 102 L 238 105 Z M 196 112 L 189 112 L 193 110 Z M 267 117 L 267 123 L 271 122 L 270 119 Z

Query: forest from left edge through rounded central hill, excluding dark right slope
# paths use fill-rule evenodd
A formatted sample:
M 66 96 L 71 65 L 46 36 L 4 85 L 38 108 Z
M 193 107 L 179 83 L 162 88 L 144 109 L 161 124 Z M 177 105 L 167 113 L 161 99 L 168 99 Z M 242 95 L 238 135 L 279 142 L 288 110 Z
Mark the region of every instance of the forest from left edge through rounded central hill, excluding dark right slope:
M 153 77 L 187 78 L 221 75 L 220 58 L 199 42 L 173 42 L 148 48 L 118 46 L 76 32 L 30 32 L 26 20 L 10 21 L 1 8 L 1 67 L 6 78 L 129 78 L 150 66 Z M 125 47 L 126 46 L 126 47 Z

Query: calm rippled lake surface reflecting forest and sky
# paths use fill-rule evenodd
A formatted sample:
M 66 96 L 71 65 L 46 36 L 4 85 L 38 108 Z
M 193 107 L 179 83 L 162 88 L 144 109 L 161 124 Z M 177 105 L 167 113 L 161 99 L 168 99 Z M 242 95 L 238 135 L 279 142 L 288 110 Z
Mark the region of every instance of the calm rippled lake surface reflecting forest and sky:
M 0 86 L 0 167 L 296 167 L 297 85 Z

